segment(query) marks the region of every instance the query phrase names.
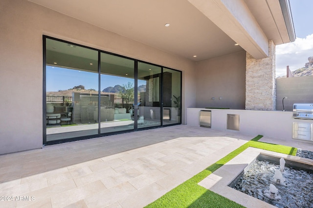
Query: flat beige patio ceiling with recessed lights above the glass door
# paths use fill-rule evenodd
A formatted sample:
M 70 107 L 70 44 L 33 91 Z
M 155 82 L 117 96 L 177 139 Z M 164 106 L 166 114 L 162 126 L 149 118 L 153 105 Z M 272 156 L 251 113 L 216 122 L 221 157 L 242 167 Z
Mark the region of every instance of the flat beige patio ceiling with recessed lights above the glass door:
M 193 61 L 243 50 L 188 0 L 29 1 Z M 255 10 L 252 1 L 245 0 Z M 268 11 L 267 0 L 258 1 L 263 3 L 257 6 Z M 260 16 L 256 20 L 264 21 L 262 13 L 255 13 Z M 266 23 L 260 25 L 267 27 Z M 268 30 L 266 35 L 271 34 Z

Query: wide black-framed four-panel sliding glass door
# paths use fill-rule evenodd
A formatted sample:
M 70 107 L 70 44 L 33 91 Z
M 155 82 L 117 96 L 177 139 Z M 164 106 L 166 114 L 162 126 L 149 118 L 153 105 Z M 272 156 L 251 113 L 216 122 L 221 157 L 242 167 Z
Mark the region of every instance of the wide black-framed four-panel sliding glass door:
M 44 144 L 180 123 L 181 72 L 44 40 Z

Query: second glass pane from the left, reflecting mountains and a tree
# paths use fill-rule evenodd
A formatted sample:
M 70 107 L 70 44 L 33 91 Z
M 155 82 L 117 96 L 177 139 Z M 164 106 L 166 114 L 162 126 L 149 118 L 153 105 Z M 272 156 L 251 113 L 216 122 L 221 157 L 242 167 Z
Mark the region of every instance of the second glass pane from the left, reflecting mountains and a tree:
M 101 53 L 101 133 L 134 130 L 134 60 Z

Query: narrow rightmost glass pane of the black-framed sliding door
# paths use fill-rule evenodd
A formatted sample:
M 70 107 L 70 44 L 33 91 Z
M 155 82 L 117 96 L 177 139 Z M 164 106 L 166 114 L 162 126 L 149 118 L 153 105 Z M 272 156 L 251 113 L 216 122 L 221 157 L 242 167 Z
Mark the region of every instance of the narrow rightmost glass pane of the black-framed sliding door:
M 163 125 L 181 122 L 181 73 L 163 69 Z

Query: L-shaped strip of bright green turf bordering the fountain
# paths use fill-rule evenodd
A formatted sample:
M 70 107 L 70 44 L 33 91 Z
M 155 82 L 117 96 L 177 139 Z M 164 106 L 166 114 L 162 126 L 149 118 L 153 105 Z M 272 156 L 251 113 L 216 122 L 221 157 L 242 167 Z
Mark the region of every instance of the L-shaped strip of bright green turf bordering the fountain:
M 297 152 L 296 148 L 259 142 L 258 140 L 262 137 L 262 135 L 258 135 L 251 139 L 246 144 L 230 152 L 216 163 L 147 205 L 146 208 L 244 208 L 244 206 L 224 196 L 199 186 L 198 183 L 248 147 L 291 155 L 295 155 Z

